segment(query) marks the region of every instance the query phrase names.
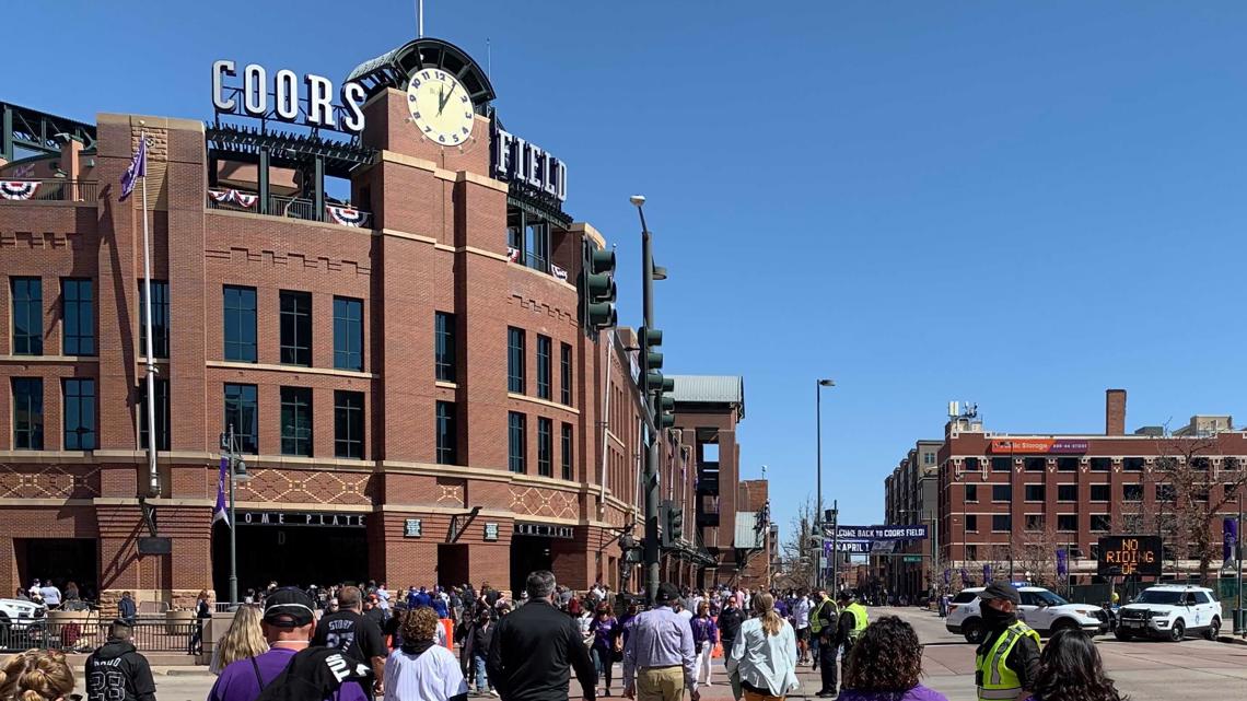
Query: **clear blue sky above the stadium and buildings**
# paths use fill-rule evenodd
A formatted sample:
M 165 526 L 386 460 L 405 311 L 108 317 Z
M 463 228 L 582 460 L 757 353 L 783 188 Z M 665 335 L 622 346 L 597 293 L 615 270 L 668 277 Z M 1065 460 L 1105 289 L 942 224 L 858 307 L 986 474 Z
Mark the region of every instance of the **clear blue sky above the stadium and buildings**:
M 414 2 L 29 2 L 0 96 L 211 115 L 218 57 L 342 80 Z M 640 313 L 643 192 L 667 367 L 746 378 L 746 475 L 882 516 L 945 403 L 993 430 L 1247 414 L 1247 4 L 428 0 L 515 133 L 570 167 Z M 1240 420 L 1247 419 L 1243 415 Z

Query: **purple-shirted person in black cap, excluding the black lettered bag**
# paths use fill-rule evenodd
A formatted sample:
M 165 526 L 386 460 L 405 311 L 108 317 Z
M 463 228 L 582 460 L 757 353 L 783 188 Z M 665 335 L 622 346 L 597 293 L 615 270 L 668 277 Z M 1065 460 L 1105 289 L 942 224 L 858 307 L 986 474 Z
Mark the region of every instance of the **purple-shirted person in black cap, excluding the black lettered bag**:
M 308 651 L 315 630 L 312 599 L 303 591 L 278 589 L 264 599 L 264 619 L 261 622 L 269 650 L 254 657 L 231 662 L 208 692 L 208 701 L 256 701 L 264 691 L 283 691 L 291 686 L 283 672 L 296 655 Z M 323 649 L 312 649 L 313 651 Z M 348 662 L 337 651 L 324 650 L 330 659 L 325 664 L 301 672 L 299 686 L 320 685 L 327 690 L 325 701 L 367 701 L 363 687 L 355 681 L 340 681 Z M 363 672 L 365 670 L 360 670 Z M 340 686 L 339 686 L 340 685 Z M 335 690 L 334 690 L 335 689 Z

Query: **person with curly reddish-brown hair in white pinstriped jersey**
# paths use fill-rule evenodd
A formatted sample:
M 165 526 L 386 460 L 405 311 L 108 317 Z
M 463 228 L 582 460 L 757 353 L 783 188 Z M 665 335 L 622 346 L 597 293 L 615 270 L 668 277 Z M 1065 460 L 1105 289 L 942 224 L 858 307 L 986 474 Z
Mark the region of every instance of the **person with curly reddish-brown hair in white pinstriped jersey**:
M 440 625 L 431 607 L 403 617 L 403 645 L 385 660 L 385 701 L 466 701 L 459 661 L 436 644 Z

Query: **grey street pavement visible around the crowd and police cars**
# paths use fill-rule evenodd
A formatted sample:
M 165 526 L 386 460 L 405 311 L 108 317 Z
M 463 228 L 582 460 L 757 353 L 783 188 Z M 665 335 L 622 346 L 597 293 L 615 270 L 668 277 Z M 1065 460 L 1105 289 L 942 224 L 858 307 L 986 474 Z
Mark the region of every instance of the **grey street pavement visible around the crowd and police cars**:
M 944 694 L 949 701 L 974 701 L 974 646 L 960 636 L 944 630 L 944 621 L 934 612 L 919 609 L 872 607 L 870 619 L 898 615 L 909 621 L 923 641 L 925 657 L 923 684 Z M 1202 699 L 1247 700 L 1247 646 L 1207 640 L 1186 640 L 1181 644 L 1143 641 L 1121 642 L 1111 636 L 1096 639 L 1109 675 L 1117 689 L 1132 701 L 1170 701 L 1178 695 Z M 161 701 L 202 701 L 216 677 L 206 667 L 156 670 L 157 695 Z M 616 666 L 619 674 L 619 666 Z M 731 699 L 723 684 L 723 669 L 716 669 L 716 684 L 703 690 L 706 701 Z M 80 675 L 81 676 L 81 675 Z M 798 677 L 802 690 L 793 699 L 813 699 L 818 691 L 818 674 L 808 666 Z M 79 690 L 81 692 L 81 680 Z M 1181 691 L 1177 691 L 1181 690 Z M 579 686 L 571 682 L 571 697 L 579 699 Z

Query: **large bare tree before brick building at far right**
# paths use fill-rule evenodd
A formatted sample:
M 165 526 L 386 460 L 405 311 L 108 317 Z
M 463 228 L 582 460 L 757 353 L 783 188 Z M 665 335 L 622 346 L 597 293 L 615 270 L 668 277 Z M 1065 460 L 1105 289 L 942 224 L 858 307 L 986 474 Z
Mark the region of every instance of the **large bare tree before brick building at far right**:
M 1247 464 L 1222 458 L 1216 434 L 1160 439 L 1153 464 L 1157 478 L 1157 530 L 1172 523 L 1175 559 L 1198 560 L 1200 581 L 1212 584 L 1212 561 L 1221 559 L 1213 529 L 1222 510 L 1247 485 Z M 1166 513 L 1168 511 L 1168 513 Z

